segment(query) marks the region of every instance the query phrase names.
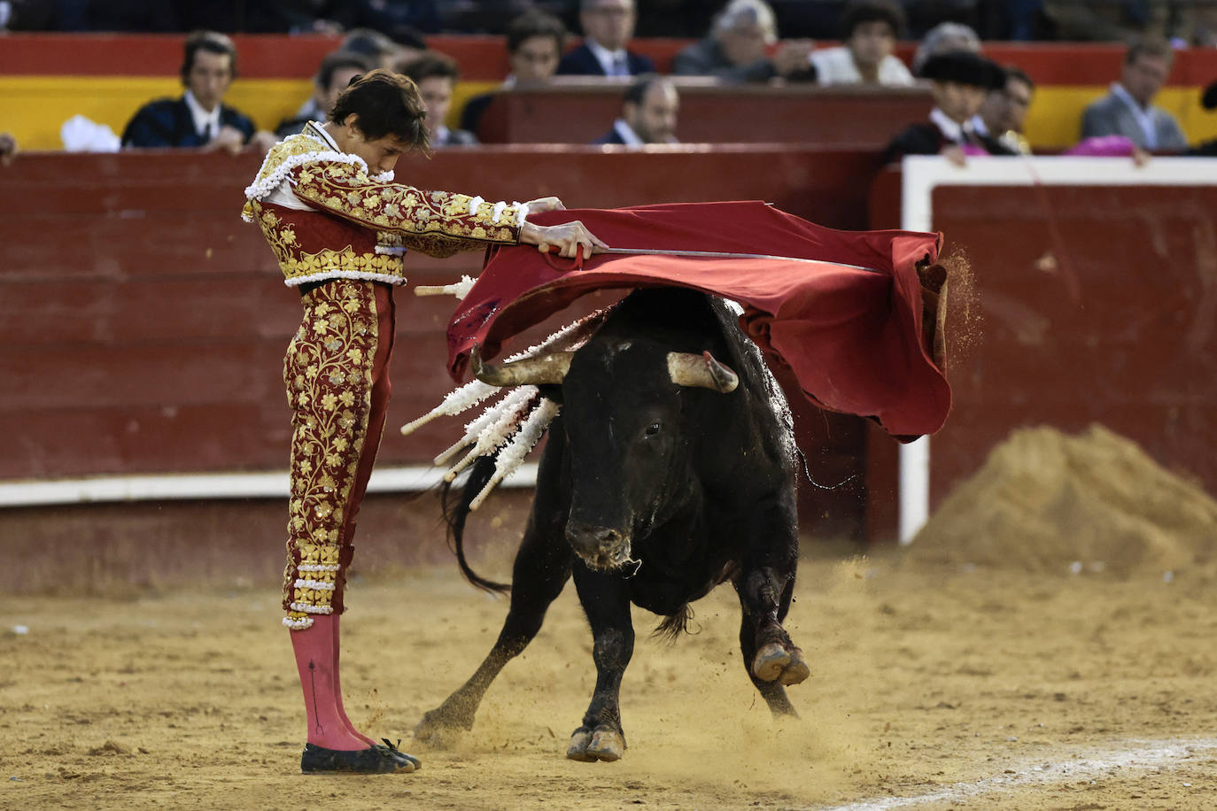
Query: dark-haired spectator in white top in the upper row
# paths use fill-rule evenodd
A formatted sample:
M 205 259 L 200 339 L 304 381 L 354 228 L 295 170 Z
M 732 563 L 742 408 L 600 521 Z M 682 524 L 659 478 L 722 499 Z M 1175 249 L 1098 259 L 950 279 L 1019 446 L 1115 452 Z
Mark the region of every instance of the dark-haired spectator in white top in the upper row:
M 845 45 L 812 52 L 820 84 L 913 84 L 893 51 L 904 12 L 892 0 L 851 0 L 841 15 Z

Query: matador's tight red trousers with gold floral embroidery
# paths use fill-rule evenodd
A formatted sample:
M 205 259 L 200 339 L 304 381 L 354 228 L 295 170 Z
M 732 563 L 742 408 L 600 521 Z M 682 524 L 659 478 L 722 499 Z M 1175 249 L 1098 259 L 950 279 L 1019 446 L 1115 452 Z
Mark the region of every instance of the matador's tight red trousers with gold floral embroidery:
M 355 517 L 392 390 L 394 326 L 393 289 L 380 282 L 332 280 L 301 302 L 284 359 L 292 407 L 284 625 L 295 630 L 343 612 Z

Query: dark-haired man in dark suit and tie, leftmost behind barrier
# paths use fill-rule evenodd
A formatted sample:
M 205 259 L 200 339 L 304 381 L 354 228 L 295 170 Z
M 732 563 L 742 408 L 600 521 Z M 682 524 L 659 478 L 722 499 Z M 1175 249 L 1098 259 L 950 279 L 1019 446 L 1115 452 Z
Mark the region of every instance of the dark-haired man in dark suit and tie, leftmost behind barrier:
M 186 38 L 180 98 L 157 98 L 140 107 L 123 130 L 124 147 L 202 147 L 240 151 L 249 143 L 269 150 L 270 133 L 256 133 L 248 116 L 223 103 L 236 78 L 236 46 L 224 34 L 198 30 Z

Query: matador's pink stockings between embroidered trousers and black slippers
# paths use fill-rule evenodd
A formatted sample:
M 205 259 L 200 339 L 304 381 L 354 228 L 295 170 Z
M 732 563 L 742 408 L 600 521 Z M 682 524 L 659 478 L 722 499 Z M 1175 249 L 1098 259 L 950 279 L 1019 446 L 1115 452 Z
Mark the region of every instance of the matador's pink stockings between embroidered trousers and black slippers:
M 366 749 L 366 738 L 348 725 L 338 685 L 338 618 L 318 615 L 313 626 L 290 631 L 296 668 L 304 689 L 308 742 L 326 749 Z

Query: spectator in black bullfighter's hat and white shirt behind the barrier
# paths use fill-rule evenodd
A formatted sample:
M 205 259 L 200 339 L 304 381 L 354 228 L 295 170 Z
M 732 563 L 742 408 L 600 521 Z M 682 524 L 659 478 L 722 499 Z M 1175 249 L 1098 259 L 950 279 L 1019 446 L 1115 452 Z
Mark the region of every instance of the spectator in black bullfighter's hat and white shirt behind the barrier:
M 965 154 L 1014 154 L 992 139 L 982 139 L 971 128 L 986 94 L 1005 84 L 998 64 L 971 51 L 948 51 L 930 57 L 922 74 L 931 81 L 935 108 L 930 120 L 910 124 L 892 139 L 884 153 L 885 162 L 905 154 L 944 154 L 963 164 Z

